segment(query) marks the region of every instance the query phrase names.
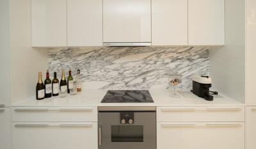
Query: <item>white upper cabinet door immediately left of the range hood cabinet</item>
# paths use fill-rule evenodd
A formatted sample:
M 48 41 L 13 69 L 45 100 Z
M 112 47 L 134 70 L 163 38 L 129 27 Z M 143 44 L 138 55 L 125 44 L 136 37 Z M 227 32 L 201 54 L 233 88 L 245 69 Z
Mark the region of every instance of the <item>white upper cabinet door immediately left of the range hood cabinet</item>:
M 67 45 L 102 46 L 102 0 L 67 0 Z

